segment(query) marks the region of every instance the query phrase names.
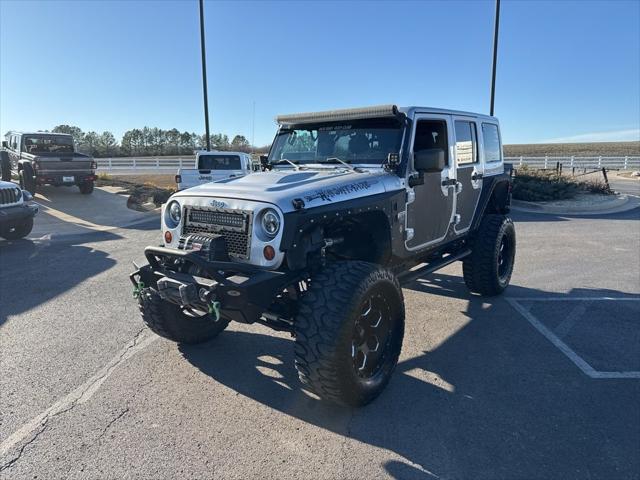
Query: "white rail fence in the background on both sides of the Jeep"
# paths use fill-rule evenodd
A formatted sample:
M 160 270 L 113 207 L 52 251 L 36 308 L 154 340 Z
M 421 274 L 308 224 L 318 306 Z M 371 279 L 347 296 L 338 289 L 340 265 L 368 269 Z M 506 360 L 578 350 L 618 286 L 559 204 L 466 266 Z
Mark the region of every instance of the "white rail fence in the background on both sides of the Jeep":
M 98 158 L 99 172 L 115 174 L 175 173 L 178 168 L 193 168 L 195 157 L 114 157 Z M 640 156 L 626 157 L 505 157 L 514 167 L 556 168 L 560 163 L 567 168 L 602 168 L 611 170 L 640 170 Z

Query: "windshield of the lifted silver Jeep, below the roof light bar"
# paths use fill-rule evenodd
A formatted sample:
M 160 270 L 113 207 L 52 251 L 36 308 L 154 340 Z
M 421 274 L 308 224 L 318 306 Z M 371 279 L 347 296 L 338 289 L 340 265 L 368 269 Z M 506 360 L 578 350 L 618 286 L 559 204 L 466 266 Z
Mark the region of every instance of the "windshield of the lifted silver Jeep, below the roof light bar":
M 276 136 L 270 163 L 382 164 L 400 151 L 402 127 L 393 119 L 358 120 L 282 128 Z

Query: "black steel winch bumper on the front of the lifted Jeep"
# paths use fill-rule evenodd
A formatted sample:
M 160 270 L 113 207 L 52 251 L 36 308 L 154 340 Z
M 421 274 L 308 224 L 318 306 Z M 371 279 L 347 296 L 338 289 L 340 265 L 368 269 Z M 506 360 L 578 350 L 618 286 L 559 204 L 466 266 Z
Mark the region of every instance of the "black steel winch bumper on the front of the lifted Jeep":
M 149 263 L 129 275 L 134 291 L 152 287 L 164 300 L 199 310 L 217 302 L 216 309 L 219 308 L 223 317 L 242 323 L 257 321 L 285 287 L 299 280 L 299 274 L 264 270 L 243 263 L 209 261 L 189 250 L 147 247 L 144 254 Z M 170 259 L 191 263 L 209 278 L 163 266 Z

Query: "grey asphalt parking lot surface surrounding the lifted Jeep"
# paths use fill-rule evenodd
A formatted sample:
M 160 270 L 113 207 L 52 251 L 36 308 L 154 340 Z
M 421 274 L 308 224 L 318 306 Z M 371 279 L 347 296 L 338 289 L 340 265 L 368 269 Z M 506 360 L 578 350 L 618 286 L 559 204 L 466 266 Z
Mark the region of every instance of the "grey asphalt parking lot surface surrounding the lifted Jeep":
M 52 222 L 82 218 L 48 193 Z M 304 392 L 286 334 L 154 336 L 127 275 L 157 217 L 84 212 L 0 241 L 2 478 L 640 477 L 638 208 L 514 213 L 501 297 L 471 296 L 459 265 L 409 285 L 400 363 L 361 409 Z

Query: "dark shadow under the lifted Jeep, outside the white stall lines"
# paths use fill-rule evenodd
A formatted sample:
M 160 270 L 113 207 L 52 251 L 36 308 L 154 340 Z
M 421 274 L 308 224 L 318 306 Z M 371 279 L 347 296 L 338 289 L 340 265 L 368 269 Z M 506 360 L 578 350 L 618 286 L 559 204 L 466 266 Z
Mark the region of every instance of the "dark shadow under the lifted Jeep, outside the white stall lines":
M 386 391 L 364 408 L 337 407 L 304 392 L 287 339 L 226 331 L 180 351 L 242 395 L 395 452 L 407 462 L 384 464 L 394 478 L 637 478 L 637 382 L 586 377 L 504 298 L 471 296 L 461 278 L 434 275 L 409 289 L 466 300 L 468 323 L 432 351 L 401 361 Z M 517 286 L 507 292 L 547 295 Z M 427 311 L 423 321 L 443 319 Z

